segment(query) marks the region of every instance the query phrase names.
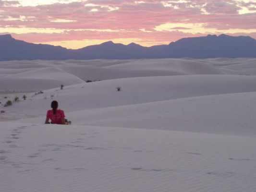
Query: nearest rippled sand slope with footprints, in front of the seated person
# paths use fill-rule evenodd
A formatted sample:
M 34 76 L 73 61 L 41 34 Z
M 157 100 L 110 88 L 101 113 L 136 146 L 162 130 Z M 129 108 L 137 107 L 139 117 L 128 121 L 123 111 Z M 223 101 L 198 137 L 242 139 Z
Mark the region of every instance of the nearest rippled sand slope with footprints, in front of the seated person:
M 3 192 L 254 192 L 255 138 L 1 123 Z

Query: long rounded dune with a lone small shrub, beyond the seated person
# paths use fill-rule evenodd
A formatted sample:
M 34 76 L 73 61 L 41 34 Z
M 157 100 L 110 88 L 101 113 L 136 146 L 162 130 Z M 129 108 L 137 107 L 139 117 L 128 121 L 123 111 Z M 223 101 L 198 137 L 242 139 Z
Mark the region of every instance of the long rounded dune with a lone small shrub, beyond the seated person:
M 77 111 L 90 108 L 133 105 L 162 100 L 195 96 L 243 93 L 256 91 L 256 77 L 242 75 L 181 75 L 114 79 L 65 86 L 45 90 L 27 102 L 16 103 L 9 109 L 32 110 L 45 112 L 51 99 L 58 99 L 66 111 Z M 118 92 L 116 87 L 122 91 Z M 24 94 L 21 94 L 22 96 Z M 50 96 L 54 96 L 50 98 Z M 32 97 L 33 96 L 33 97 Z M 48 98 L 48 99 L 45 99 Z M 13 97 L 14 99 L 14 97 Z M 2 100 L 3 103 L 6 101 Z M 43 106 L 42 106 L 43 105 Z

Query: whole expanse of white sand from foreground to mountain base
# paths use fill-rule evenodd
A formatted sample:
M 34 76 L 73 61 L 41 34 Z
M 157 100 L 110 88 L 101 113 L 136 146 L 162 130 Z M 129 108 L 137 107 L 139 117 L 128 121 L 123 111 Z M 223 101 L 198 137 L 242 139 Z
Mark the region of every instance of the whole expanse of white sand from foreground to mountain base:
M 255 192 L 255 100 L 251 58 L 0 62 L 0 192 Z

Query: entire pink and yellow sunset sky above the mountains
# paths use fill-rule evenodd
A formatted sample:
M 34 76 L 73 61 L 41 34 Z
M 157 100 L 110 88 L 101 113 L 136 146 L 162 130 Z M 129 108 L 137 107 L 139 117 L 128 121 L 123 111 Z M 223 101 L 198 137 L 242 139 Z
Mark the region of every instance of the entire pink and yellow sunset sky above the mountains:
M 209 34 L 256 38 L 256 0 L 0 0 L 2 34 L 73 49 Z

